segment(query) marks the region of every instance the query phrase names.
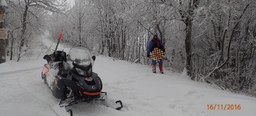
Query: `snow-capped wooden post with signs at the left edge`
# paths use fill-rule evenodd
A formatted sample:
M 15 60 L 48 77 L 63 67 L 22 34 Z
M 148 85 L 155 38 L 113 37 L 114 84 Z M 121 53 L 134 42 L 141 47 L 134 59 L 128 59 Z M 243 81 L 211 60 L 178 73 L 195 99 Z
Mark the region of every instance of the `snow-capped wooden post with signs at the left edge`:
M 6 62 L 6 40 L 7 29 L 5 29 L 5 9 L 7 8 L 6 0 L 0 0 L 0 64 Z

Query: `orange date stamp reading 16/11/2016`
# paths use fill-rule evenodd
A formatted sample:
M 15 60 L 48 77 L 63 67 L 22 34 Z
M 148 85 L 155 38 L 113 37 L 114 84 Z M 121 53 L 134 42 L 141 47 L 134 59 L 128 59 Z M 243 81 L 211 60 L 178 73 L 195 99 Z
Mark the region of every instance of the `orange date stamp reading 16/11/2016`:
M 240 104 L 207 104 L 208 110 L 241 110 Z

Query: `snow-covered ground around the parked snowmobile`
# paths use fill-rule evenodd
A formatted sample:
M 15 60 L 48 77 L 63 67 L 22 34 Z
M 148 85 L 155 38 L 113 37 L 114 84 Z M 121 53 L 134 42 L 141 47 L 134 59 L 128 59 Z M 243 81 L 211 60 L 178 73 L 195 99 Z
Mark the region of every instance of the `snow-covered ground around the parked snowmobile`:
M 54 49 L 54 46 L 53 46 Z M 68 52 L 59 45 L 58 50 Z M 40 51 L 38 51 L 40 52 Z M 0 116 L 57 116 L 58 108 L 51 90 L 43 83 L 41 71 L 46 60 L 41 53 L 20 62 L 0 64 Z M 49 53 L 48 53 L 49 54 Z M 96 56 L 93 71 L 108 92 L 106 104 L 121 100 L 121 111 L 94 101 L 68 107 L 74 116 L 254 116 L 256 98 L 220 90 L 214 85 L 198 83 L 179 73 L 153 74 L 151 67 Z M 158 70 L 159 71 L 159 70 Z M 158 72 L 157 71 L 157 72 Z M 213 104 L 215 110 L 208 110 Z M 227 110 L 228 105 L 234 106 Z M 218 106 L 219 105 L 219 106 Z M 226 108 L 224 110 L 224 107 Z M 239 107 L 237 107 L 239 105 Z M 235 110 L 236 106 L 236 110 Z M 232 108 L 232 107 L 231 107 Z M 240 109 L 241 108 L 241 109 Z M 54 110 L 52 110 L 54 109 Z M 240 109 L 240 110 L 237 110 Z

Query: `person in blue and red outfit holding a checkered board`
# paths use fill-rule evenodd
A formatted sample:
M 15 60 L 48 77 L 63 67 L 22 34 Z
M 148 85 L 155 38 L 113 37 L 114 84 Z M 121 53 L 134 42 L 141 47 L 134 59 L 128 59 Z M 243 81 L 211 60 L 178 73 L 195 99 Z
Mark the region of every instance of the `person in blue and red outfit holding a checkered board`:
M 165 48 L 164 48 L 164 45 L 162 44 L 162 41 L 160 39 L 158 39 L 158 35 L 157 33 L 155 32 L 153 34 L 153 39 L 149 42 L 148 44 L 148 50 L 147 50 L 147 57 L 149 58 L 150 55 L 149 53 L 152 52 L 154 50 L 154 48 L 158 48 L 160 50 L 162 50 L 163 52 L 165 52 Z M 163 69 L 162 69 L 162 59 L 158 62 L 159 64 L 159 70 L 160 70 L 160 73 L 163 74 Z M 156 65 L 156 61 L 152 59 L 152 71 L 153 73 L 156 73 L 155 71 L 155 65 Z

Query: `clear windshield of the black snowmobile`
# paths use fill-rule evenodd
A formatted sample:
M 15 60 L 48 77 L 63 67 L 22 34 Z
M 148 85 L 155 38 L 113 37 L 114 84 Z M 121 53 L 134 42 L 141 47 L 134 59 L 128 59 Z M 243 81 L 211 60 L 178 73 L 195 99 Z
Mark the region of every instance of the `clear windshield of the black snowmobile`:
M 67 63 L 69 64 L 70 68 L 73 68 L 73 63 L 87 67 L 92 63 L 94 64 L 94 61 L 92 60 L 91 52 L 86 47 L 73 47 L 70 49 L 68 55 L 67 55 Z

